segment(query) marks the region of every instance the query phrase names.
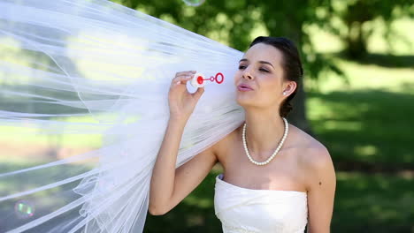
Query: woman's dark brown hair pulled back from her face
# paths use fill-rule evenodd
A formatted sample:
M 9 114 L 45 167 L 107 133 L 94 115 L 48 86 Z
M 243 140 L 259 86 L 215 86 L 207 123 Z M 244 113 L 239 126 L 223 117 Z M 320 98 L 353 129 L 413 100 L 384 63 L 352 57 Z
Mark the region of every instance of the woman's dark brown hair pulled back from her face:
M 303 77 L 303 67 L 299 52 L 295 43 L 285 37 L 259 36 L 250 43 L 249 48 L 257 43 L 265 43 L 279 49 L 283 55 L 281 65 L 285 74 L 284 78 L 296 82 L 297 86 L 295 92 L 290 94 L 288 98 L 280 104 L 280 116 L 288 116 L 289 112 L 293 109 L 290 101 L 295 97 Z

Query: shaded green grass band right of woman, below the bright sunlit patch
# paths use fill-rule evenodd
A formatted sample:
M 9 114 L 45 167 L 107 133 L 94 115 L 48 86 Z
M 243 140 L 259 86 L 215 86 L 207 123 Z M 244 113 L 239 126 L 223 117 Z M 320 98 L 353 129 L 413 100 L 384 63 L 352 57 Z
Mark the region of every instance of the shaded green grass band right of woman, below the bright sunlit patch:
M 414 165 L 414 95 L 384 91 L 309 94 L 312 129 L 336 162 Z

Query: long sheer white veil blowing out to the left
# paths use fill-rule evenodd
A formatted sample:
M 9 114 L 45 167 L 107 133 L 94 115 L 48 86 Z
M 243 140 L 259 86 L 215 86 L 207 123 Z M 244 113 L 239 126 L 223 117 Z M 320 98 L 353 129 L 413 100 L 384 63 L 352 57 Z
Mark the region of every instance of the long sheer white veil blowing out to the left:
M 205 87 L 188 120 L 180 166 L 242 124 L 240 58 L 106 0 L 0 0 L 0 139 L 99 145 L 19 168 L 0 161 L 0 232 L 142 232 L 171 79 L 188 70 L 225 77 Z

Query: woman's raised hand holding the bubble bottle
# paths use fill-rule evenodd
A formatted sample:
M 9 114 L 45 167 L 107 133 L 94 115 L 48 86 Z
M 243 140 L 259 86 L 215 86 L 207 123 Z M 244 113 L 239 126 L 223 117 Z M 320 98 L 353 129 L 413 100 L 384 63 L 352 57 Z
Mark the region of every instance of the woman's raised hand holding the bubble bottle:
M 189 93 L 187 82 L 192 79 L 196 71 L 182 71 L 175 74 L 168 93 L 170 106 L 170 118 L 187 121 L 196 108 L 196 103 L 204 93 L 204 88 L 199 87 L 196 93 Z

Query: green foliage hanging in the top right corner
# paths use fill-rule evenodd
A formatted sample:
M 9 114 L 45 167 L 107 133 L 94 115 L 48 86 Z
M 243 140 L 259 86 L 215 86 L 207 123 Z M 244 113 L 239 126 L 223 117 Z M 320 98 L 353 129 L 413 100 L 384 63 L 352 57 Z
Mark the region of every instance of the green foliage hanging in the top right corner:
M 333 0 L 328 10 L 326 19 L 337 21 L 327 20 L 330 23 L 325 25 L 326 29 L 345 43 L 347 56 L 358 59 L 368 53 L 367 42 L 376 30 L 373 21 L 384 23 L 387 29 L 384 37 L 390 43 L 393 34 L 391 23 L 395 19 L 414 16 L 414 4 L 409 0 Z

